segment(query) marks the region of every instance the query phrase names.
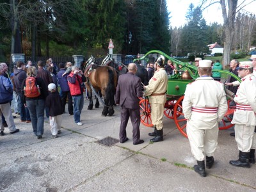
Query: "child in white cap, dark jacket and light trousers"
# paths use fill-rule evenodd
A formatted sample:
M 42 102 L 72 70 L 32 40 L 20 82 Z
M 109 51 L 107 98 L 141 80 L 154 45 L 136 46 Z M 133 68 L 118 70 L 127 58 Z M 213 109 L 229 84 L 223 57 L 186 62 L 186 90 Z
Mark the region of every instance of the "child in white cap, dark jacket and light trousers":
M 62 106 L 60 94 L 56 91 L 56 85 L 50 83 L 48 85 L 49 95 L 46 97 L 45 106 L 49 108 L 50 127 L 53 138 L 58 138 L 61 133 L 60 127 L 62 122 Z

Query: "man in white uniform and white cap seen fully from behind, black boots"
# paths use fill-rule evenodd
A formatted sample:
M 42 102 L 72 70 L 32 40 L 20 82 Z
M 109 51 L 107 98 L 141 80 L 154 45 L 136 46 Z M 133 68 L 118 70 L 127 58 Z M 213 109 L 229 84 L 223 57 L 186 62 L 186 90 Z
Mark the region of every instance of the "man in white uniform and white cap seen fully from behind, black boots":
M 200 77 L 187 85 L 182 102 L 191 152 L 197 161 L 194 170 L 201 177 L 206 177 L 205 160 L 206 168 L 211 168 L 214 164 L 213 154 L 218 145 L 218 122 L 227 111 L 226 93 L 223 84 L 211 77 L 211 63 L 211 60 L 199 61 Z

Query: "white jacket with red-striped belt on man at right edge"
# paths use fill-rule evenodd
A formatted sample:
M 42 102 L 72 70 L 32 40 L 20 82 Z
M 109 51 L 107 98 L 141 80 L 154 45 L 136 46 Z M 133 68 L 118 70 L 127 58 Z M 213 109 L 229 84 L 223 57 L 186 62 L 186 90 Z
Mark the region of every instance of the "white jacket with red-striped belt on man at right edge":
M 234 101 L 237 107 L 232 124 L 256 125 L 256 78 L 249 74 L 242 79 Z

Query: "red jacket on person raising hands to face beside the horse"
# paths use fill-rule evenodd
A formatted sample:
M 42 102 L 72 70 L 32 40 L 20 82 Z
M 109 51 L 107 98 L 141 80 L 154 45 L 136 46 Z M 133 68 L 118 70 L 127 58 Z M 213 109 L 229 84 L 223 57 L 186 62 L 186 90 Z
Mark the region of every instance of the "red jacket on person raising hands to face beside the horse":
M 83 88 L 81 86 L 83 81 L 86 81 L 86 78 L 84 77 L 84 75 L 80 77 L 74 74 L 74 72 L 71 72 L 68 75 L 68 86 L 70 89 L 70 94 L 72 96 L 83 94 Z

